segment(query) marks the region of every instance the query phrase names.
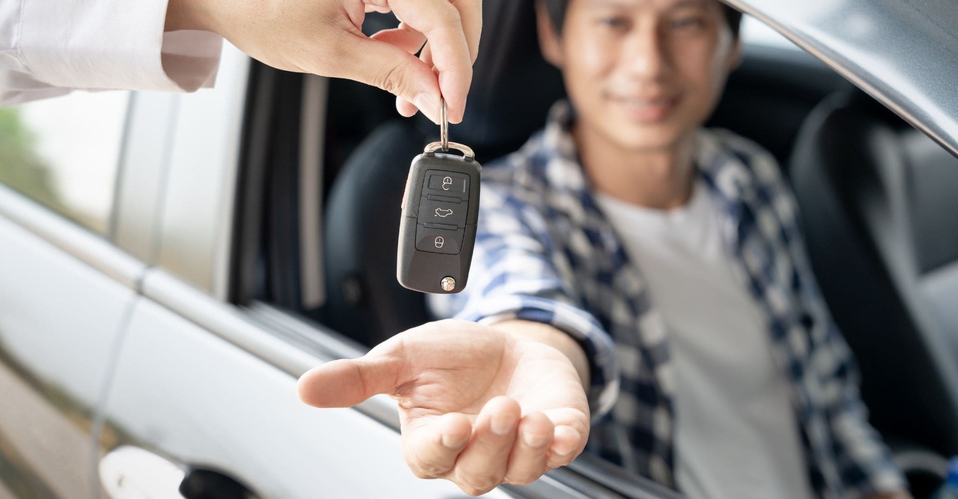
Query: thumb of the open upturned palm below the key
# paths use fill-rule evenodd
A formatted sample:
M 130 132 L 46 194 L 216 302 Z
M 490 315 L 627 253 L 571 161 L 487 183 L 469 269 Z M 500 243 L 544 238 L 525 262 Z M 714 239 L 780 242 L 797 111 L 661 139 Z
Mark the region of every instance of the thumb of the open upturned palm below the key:
M 386 355 L 327 362 L 310 369 L 296 385 L 300 400 L 314 407 L 352 407 L 396 389 L 401 361 Z

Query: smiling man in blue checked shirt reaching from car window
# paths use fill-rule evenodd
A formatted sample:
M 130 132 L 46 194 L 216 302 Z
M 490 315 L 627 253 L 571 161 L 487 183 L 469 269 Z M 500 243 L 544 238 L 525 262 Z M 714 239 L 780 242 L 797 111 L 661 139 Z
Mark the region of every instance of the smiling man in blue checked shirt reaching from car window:
M 702 128 L 741 58 L 741 14 L 716 0 L 538 11 L 569 101 L 483 171 L 472 280 L 430 299 L 469 322 L 317 368 L 302 397 L 397 397 L 409 465 L 470 493 L 534 480 L 587 440 L 694 498 L 909 497 L 778 167 Z

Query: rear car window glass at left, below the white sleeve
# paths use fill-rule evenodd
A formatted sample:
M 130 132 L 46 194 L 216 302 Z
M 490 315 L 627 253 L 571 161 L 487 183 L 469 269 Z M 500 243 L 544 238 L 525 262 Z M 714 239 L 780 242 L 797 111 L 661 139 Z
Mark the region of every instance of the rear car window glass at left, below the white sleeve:
M 105 235 L 129 92 L 0 108 L 0 183 Z

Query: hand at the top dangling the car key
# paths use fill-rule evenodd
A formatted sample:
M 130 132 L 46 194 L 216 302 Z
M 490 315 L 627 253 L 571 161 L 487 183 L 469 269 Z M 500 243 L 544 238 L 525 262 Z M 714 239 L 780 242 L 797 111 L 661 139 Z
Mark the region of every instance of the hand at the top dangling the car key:
M 393 11 L 399 27 L 362 33 L 366 12 Z M 369 83 L 439 123 L 439 100 L 459 123 L 479 50 L 482 0 L 170 0 L 166 31 L 203 30 L 286 71 Z M 424 46 L 423 46 L 424 44 Z M 422 49 L 422 57 L 414 56 Z

